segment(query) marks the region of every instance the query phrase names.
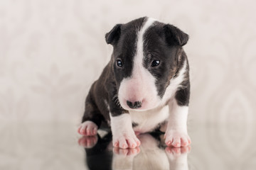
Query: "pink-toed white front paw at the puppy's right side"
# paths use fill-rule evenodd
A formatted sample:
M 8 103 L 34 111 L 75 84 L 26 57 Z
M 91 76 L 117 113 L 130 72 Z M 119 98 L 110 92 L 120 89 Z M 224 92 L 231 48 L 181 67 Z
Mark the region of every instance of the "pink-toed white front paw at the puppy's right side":
M 165 143 L 167 146 L 174 147 L 187 147 L 191 144 L 191 139 L 188 136 L 187 132 L 183 132 L 182 130 L 167 130 L 165 137 Z

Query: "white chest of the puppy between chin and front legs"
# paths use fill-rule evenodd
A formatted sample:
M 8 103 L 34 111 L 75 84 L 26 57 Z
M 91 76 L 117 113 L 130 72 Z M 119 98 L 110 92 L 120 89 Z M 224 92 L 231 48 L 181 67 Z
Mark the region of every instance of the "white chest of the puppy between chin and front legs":
M 136 132 L 151 132 L 169 116 L 169 107 L 156 108 L 151 111 L 129 111 L 132 118 L 133 129 Z

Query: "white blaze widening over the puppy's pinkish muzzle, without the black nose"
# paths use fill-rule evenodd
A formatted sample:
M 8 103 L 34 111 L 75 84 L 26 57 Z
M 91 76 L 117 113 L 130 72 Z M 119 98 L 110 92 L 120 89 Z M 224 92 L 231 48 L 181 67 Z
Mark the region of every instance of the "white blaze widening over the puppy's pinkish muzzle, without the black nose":
M 135 101 L 142 102 L 142 107 L 136 110 L 146 111 L 155 108 L 161 100 L 157 95 L 156 79 L 143 66 L 144 61 L 144 33 L 153 25 L 153 18 L 148 18 L 144 26 L 137 34 L 137 51 L 133 60 L 132 76 L 121 81 L 119 87 L 119 102 L 122 108 L 131 110 L 127 106 L 127 101 L 134 103 Z

